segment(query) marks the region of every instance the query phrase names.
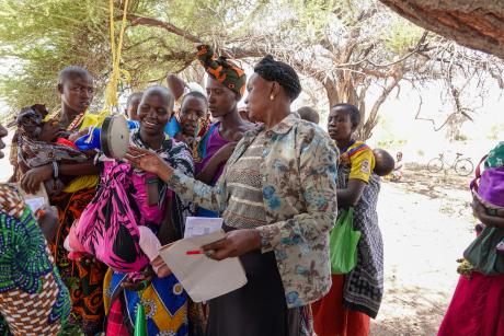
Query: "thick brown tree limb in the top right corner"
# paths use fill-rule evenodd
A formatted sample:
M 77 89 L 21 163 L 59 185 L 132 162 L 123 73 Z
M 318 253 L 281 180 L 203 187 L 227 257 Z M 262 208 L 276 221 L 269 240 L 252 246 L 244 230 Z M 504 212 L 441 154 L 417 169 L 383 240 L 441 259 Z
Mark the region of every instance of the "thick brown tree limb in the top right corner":
M 411 22 L 504 59 L 503 0 L 380 0 Z

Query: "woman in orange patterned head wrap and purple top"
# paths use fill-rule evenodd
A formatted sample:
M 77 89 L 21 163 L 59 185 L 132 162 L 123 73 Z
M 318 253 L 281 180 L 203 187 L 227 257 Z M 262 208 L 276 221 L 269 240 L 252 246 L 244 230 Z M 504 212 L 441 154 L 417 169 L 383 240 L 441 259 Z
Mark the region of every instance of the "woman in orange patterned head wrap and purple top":
M 196 178 L 215 185 L 237 141 L 253 124 L 243 120 L 238 113 L 238 102 L 245 91 L 245 72 L 225 57 L 217 58 L 208 45 L 199 45 L 197 50 L 197 57 L 208 73 L 208 108 L 219 121 L 211 124 L 205 134 L 196 135 Z M 199 209 L 198 216 L 215 217 L 216 213 Z

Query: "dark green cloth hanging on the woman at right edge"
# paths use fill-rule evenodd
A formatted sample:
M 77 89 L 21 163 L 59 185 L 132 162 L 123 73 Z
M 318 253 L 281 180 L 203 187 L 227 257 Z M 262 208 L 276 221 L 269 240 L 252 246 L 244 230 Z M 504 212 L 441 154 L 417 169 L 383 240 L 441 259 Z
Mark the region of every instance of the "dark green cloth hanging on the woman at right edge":
M 504 255 L 497 244 L 504 239 L 504 229 L 485 227 L 463 252 L 473 269 L 486 276 L 504 274 Z

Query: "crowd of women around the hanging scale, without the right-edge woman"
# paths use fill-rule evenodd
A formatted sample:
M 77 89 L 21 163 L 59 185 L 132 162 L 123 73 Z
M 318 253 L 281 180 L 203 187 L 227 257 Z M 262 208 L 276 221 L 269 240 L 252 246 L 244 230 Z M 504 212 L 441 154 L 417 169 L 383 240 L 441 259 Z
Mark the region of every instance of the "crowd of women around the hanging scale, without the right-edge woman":
M 27 193 L 45 186 L 57 211 L 32 213 L 16 187 L 0 186 L 1 335 L 71 325 L 133 335 L 139 304 L 148 335 L 369 334 L 383 293 L 379 175 L 393 160 L 354 139 L 360 113 L 351 104 L 332 107 L 329 134 L 313 111 L 293 112 L 301 85 L 287 63 L 266 56 L 247 80 L 207 45 L 197 56 L 205 91 L 169 76 L 168 88 L 128 97 L 124 160 L 76 146 L 94 95 L 80 67 L 59 73 L 59 116 L 43 105 L 16 116 L 11 182 Z M 330 232 L 348 207 L 362 234 L 357 263 L 332 275 Z M 191 301 L 158 253 L 182 239 L 187 216 L 224 219 L 225 239 L 202 250 L 239 257 L 244 287 Z

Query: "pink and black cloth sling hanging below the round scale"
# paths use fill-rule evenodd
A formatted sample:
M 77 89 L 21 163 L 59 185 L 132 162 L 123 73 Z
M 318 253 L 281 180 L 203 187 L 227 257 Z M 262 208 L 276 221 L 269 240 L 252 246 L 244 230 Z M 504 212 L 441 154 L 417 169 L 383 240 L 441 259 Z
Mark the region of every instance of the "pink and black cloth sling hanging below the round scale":
M 145 187 L 147 177 L 148 174 L 136 174 L 128 163 L 104 162 L 96 196 L 72 228 L 83 252 L 116 271 L 136 273 L 149 264 L 149 258 L 140 248 L 138 225 L 160 224 L 164 206 L 148 206 Z M 127 196 L 130 193 L 129 186 L 135 190 L 134 205 Z M 134 209 L 141 216 L 136 215 Z M 70 242 L 72 250 L 76 246 L 79 247 Z

